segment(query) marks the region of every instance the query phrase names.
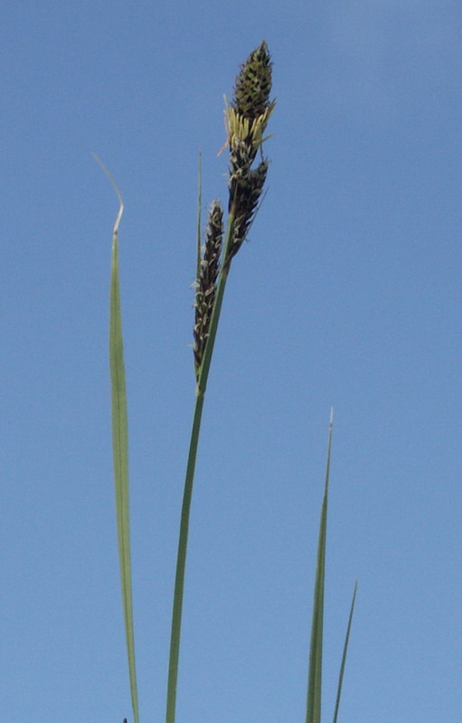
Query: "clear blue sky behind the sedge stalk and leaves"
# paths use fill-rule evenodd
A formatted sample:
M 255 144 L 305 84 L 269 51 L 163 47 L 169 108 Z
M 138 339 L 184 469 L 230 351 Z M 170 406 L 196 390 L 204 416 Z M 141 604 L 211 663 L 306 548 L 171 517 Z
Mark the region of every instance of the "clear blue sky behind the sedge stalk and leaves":
M 325 721 L 460 720 L 462 7 L 41 2 L 0 11 L 2 718 L 130 718 L 108 386 L 115 175 L 142 721 L 161 721 L 193 413 L 198 153 L 265 38 L 269 191 L 203 418 L 178 723 L 303 721 L 335 408 Z

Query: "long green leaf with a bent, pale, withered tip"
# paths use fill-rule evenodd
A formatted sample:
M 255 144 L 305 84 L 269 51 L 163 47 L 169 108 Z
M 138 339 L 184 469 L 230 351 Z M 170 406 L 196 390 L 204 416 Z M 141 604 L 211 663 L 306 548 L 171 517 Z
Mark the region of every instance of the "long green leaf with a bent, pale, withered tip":
M 133 717 L 139 723 L 137 698 L 137 671 L 135 664 L 135 635 L 133 628 L 133 604 L 130 560 L 130 519 L 128 490 L 128 423 L 127 423 L 127 388 L 125 381 L 124 347 L 122 337 L 122 318 L 120 313 L 120 285 L 118 277 L 118 226 L 124 204 L 112 175 L 106 166 L 95 155 L 103 171 L 118 196 L 119 208 L 112 233 L 112 256 L 110 270 L 109 299 L 109 370 L 111 383 L 112 409 L 112 449 L 114 460 L 114 488 L 116 493 L 116 513 L 118 529 L 118 559 L 120 566 L 120 582 L 122 588 L 122 605 L 124 610 L 125 632 L 127 640 L 127 661 L 130 677 L 130 692 Z

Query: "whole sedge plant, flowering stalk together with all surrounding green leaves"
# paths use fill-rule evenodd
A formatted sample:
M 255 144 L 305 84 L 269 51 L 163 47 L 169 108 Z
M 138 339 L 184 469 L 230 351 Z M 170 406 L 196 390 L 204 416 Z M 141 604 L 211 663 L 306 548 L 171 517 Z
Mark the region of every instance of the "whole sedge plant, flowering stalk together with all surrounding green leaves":
M 184 602 L 184 574 L 188 547 L 189 520 L 193 496 L 193 481 L 197 448 L 201 431 L 203 403 L 212 354 L 222 312 L 222 301 L 231 270 L 231 263 L 240 251 L 254 221 L 262 198 L 269 162 L 263 154 L 263 143 L 269 118 L 275 107 L 270 99 L 272 63 L 265 41 L 250 53 L 236 78 L 231 102 L 225 98 L 226 143 L 229 150 L 228 208 L 223 220 L 222 205 L 213 201 L 208 212 L 205 239 L 202 244 L 201 224 L 201 169 L 199 172 L 196 279 L 194 289 L 193 364 L 195 371 L 195 405 L 193 425 L 184 479 L 184 496 L 180 519 L 180 534 L 174 579 L 174 601 L 170 637 L 170 656 L 166 691 L 165 723 L 175 723 L 176 689 L 180 660 L 182 612 Z M 99 159 L 98 159 L 99 160 Z M 101 164 L 101 162 L 99 161 Z M 120 289 L 118 280 L 118 225 L 123 202 L 118 187 L 107 169 L 118 194 L 119 210 L 113 230 L 110 280 L 109 362 L 112 399 L 112 437 L 114 480 L 118 522 L 118 552 L 122 587 L 122 601 L 127 640 L 127 661 L 134 723 L 139 723 L 137 674 L 135 665 L 135 637 L 133 628 L 130 534 L 128 505 L 128 434 L 127 392 L 125 383 Z M 309 651 L 306 696 L 306 723 L 320 723 L 322 692 L 322 649 L 324 627 L 325 540 L 327 525 L 327 497 L 332 444 L 332 414 L 329 427 L 325 493 L 319 528 L 316 561 L 316 581 L 313 620 Z M 335 701 L 334 723 L 337 720 L 340 693 L 344 677 L 344 663 L 350 635 L 354 599 L 350 610 L 344 653 Z M 125 722 L 124 722 L 125 723 Z

